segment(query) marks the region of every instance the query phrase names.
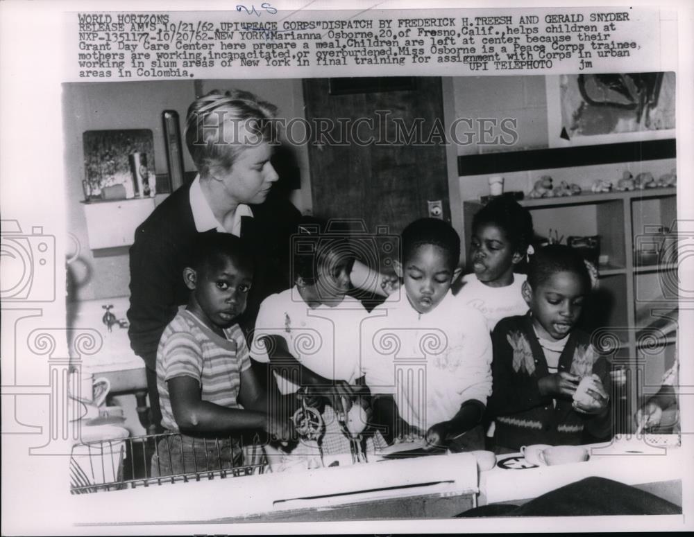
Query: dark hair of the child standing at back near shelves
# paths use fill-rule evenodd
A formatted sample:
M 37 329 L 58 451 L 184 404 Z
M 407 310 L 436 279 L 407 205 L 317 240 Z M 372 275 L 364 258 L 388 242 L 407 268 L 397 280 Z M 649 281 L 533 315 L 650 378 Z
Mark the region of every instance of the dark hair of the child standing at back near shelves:
M 504 232 L 514 253 L 525 257 L 534 237 L 530 211 L 511 197 L 496 197 L 473 216 L 473 232 L 482 225 L 490 224 Z

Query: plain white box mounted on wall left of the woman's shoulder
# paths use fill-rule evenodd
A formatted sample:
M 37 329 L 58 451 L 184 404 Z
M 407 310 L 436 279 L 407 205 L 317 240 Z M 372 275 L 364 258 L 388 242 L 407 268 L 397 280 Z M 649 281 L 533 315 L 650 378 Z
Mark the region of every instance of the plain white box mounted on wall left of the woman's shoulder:
M 92 250 L 133 244 L 135 229 L 154 210 L 153 197 L 82 205 L 87 219 L 87 234 Z

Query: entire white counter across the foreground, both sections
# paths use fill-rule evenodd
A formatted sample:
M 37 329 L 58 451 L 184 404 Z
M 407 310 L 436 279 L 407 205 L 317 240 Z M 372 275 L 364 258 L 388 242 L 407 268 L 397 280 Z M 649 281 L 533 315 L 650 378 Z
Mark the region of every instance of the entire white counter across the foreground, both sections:
M 513 503 L 591 476 L 613 479 L 682 505 L 688 464 L 674 436 L 618 438 L 586 446 L 591 459 L 575 464 L 477 473 L 471 454 L 375 461 L 297 473 L 96 493 L 74 497 L 82 524 L 158 522 L 280 522 L 450 518 L 475 505 Z M 498 463 L 522 459 L 500 455 Z M 222 502 L 219 498 L 224 498 Z M 185 504 L 186 509 L 180 509 Z M 465 519 L 456 522 L 465 525 Z

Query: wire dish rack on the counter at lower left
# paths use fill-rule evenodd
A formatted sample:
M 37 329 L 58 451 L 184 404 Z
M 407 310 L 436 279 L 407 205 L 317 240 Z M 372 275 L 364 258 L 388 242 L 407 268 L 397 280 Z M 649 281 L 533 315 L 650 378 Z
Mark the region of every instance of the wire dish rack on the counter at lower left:
M 186 460 L 184 464 L 183 455 L 180 455 L 183 471 L 174 473 L 171 470 L 166 475 L 153 475 L 156 473 L 151 465 L 153 455 L 167 455 L 169 460 L 177 460 L 176 455 L 172 459 L 170 446 L 182 443 L 185 438 L 179 433 L 164 433 L 78 443 L 72 448 L 70 457 L 70 491 L 72 494 L 118 491 L 140 486 L 258 475 L 269 469 L 260 437 L 256 434 L 246 445 L 242 440 L 231 437 L 196 439 L 196 443 L 205 448 L 204 464 L 199 464 L 200 458 L 197 456 Z M 167 454 L 160 452 L 163 439 L 167 439 L 163 443 L 169 450 Z M 222 457 L 223 446 L 227 441 L 235 446 L 234 449 L 240 450 L 242 456 L 238 461 Z

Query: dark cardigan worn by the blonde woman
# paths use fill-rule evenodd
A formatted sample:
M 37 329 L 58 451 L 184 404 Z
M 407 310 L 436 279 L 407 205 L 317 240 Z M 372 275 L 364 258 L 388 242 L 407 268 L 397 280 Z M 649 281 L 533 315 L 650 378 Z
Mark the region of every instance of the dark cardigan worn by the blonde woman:
M 182 186 L 167 197 L 137 227 L 135 243 L 130 247 L 128 336 L 135 354 L 152 370 L 164 328 L 176 315 L 178 306 L 188 302 L 183 269 L 190 263 L 199 236 L 189 192 L 189 185 Z M 251 205 L 251 211 L 253 218 L 242 218 L 241 236 L 255 257 L 255 273 L 246 312 L 237 320 L 247 337 L 262 300 L 291 286 L 290 236 L 301 218 L 291 203 L 272 198 Z

